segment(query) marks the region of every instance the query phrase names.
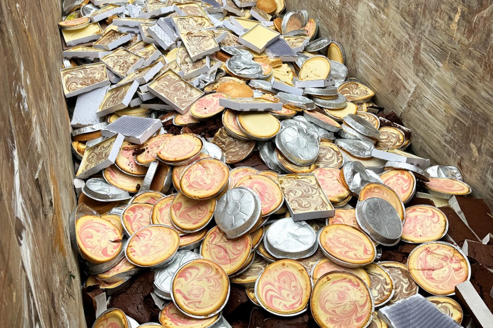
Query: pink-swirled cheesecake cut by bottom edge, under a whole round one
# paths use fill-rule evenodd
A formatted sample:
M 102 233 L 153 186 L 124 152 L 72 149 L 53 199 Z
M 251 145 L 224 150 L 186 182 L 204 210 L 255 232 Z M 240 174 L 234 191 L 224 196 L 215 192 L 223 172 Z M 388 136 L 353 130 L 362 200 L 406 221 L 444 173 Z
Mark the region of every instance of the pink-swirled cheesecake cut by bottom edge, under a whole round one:
M 196 319 L 181 312 L 175 303 L 170 302 L 159 313 L 159 322 L 166 328 L 207 328 L 213 325 L 220 315 L 210 318 Z

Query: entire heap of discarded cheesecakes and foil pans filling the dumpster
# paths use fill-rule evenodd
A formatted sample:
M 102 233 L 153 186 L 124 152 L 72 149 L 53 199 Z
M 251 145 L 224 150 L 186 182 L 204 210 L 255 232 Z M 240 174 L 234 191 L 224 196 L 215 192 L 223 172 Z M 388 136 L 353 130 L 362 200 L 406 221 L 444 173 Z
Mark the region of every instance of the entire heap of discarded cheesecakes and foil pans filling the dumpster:
M 344 47 L 285 6 L 64 2 L 84 287 L 114 297 L 152 271 L 160 311 L 105 308 L 94 327 L 228 327 L 238 288 L 321 327 L 386 327 L 378 309 L 417 293 L 461 323 L 471 267 L 439 207 L 470 187 L 406 152 Z M 405 263 L 380 260 L 404 243 Z

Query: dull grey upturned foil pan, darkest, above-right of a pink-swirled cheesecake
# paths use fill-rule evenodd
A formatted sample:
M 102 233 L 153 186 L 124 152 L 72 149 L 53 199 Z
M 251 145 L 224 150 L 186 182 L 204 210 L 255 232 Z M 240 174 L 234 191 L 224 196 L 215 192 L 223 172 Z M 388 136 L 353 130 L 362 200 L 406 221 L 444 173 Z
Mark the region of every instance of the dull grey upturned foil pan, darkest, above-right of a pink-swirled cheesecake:
M 393 246 L 401 240 L 402 221 L 399 213 L 382 198 L 368 198 L 356 205 L 356 221 L 374 241 Z

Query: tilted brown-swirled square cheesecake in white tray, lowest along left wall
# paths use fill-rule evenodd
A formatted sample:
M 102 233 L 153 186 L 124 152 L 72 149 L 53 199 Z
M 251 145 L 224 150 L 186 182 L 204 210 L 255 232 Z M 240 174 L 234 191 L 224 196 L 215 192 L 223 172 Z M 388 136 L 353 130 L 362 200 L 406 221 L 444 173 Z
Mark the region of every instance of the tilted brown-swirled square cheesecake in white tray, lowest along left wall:
M 123 135 L 117 134 L 84 152 L 81 165 L 75 175 L 78 179 L 87 179 L 93 174 L 113 165 L 123 144 Z

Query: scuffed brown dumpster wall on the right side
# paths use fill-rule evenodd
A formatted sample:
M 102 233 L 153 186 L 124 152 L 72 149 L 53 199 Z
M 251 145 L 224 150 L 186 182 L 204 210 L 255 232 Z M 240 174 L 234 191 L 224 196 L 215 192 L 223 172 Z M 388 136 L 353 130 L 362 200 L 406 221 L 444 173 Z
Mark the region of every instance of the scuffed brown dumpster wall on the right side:
M 457 166 L 493 206 L 491 1 L 287 1 L 320 17 L 350 75 L 412 129 L 411 148 Z

